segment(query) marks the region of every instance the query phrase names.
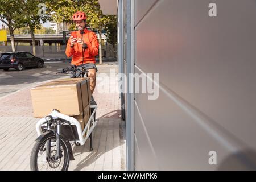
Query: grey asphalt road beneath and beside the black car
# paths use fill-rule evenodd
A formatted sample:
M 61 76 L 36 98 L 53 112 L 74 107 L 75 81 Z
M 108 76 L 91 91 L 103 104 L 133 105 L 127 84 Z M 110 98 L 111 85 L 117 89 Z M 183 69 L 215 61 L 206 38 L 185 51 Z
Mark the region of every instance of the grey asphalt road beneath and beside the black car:
M 16 71 L 15 69 L 3 71 L 3 69 L 0 69 L 0 98 L 39 82 L 69 78 L 69 75 L 56 74 L 58 68 L 65 68 L 69 65 L 70 63 L 46 62 L 44 67 L 40 69 L 28 68 L 23 71 Z M 103 65 L 97 65 L 97 68 L 97 74 L 106 73 L 110 75 L 110 69 L 115 69 L 115 73 L 117 73 L 117 62 L 107 62 Z

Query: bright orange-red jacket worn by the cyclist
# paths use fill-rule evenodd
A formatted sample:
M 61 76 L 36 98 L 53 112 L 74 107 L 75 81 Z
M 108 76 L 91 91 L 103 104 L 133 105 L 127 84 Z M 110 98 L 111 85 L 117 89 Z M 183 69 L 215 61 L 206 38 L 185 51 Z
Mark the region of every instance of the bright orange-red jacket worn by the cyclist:
M 88 48 L 84 50 L 84 64 L 96 62 L 95 56 L 98 55 L 98 39 L 94 32 L 87 29 L 84 30 L 84 34 L 81 35 L 80 31 L 75 31 L 77 38 L 82 38 L 84 43 L 87 44 Z M 82 37 L 83 36 L 83 37 Z M 70 45 L 70 38 L 68 40 L 66 55 L 72 57 L 71 64 L 81 65 L 82 64 L 82 45 L 75 43 L 74 47 Z

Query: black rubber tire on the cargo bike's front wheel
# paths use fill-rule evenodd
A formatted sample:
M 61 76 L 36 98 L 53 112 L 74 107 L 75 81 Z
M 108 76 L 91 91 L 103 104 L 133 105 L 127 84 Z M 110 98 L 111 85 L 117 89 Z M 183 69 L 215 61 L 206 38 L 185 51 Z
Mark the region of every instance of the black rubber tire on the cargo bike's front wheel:
M 49 139 L 54 140 L 54 139 L 56 139 L 56 137 L 53 133 L 50 133 L 48 135 L 45 135 L 42 139 L 36 140 L 36 143 L 34 144 L 34 147 L 32 148 L 31 156 L 30 156 L 30 169 L 31 169 L 31 171 L 39 171 L 38 162 L 37 162 L 38 154 L 40 152 L 40 148 Z M 68 146 L 62 138 L 61 138 L 61 146 L 63 146 L 64 157 L 62 157 L 62 158 L 64 158 L 64 164 L 63 164 L 63 167 L 60 171 L 68 171 L 70 156 L 69 156 L 69 152 L 68 152 Z M 47 170 L 44 170 L 44 171 L 47 171 Z

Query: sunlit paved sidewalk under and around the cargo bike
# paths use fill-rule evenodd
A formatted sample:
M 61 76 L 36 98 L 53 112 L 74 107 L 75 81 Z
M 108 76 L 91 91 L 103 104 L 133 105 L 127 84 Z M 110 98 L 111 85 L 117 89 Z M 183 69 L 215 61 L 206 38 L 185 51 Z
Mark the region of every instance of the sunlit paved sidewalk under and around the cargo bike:
M 0 170 L 30 170 L 30 153 L 37 138 L 35 124 L 39 120 L 32 117 L 30 89 L 34 86 L 0 98 Z M 93 151 L 89 151 L 89 139 L 84 146 L 72 143 L 75 160 L 69 170 L 125 170 L 126 141 L 119 96 L 100 94 L 97 88 L 93 95 L 98 105 Z

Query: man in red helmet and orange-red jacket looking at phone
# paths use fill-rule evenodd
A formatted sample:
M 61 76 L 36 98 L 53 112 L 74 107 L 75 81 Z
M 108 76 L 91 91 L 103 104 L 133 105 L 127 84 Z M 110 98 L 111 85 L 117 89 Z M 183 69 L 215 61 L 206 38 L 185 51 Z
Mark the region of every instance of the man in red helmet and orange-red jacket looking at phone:
M 94 32 L 86 29 L 86 14 L 77 11 L 72 16 L 78 31 L 72 32 L 66 48 L 66 55 L 72 56 L 71 64 L 79 67 L 92 68 L 88 71 L 90 78 L 90 90 L 93 91 L 96 86 L 96 60 L 95 56 L 98 55 L 98 39 Z M 93 100 L 93 97 L 92 97 Z

